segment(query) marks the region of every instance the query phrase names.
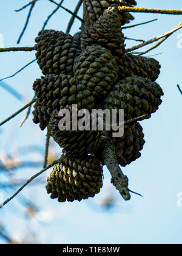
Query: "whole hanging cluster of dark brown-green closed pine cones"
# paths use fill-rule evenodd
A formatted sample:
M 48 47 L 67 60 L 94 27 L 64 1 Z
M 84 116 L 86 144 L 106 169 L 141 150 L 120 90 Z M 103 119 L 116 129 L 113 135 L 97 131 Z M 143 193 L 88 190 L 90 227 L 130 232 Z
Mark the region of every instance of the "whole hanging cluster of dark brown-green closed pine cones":
M 72 115 L 78 109 L 124 109 L 125 120 L 156 112 L 163 90 L 155 80 L 157 60 L 126 54 L 121 26 L 133 20 L 118 5 L 135 0 L 84 0 L 84 23 L 75 35 L 42 30 L 35 39 L 36 59 L 44 76 L 33 84 L 36 103 L 33 122 L 45 127 L 63 148 L 64 155 L 47 178 L 47 193 L 59 202 L 87 199 L 103 185 L 101 131 L 61 131 L 60 108 Z M 144 134 L 134 122 L 124 127 L 121 138 L 110 137 L 121 166 L 141 156 Z

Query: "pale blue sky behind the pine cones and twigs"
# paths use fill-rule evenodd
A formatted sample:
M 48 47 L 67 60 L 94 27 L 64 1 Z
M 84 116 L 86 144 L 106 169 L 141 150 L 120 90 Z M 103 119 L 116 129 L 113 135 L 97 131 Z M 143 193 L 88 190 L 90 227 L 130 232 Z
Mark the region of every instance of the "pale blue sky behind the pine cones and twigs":
M 57 1 L 58 2 L 58 1 Z M 151 4 L 150 4 L 151 2 Z M 1 3 L 0 34 L 4 36 L 4 47 L 16 46 L 19 34 L 25 23 L 27 9 L 15 13 L 25 4 L 23 0 L 7 0 Z M 76 1 L 65 0 L 67 8 L 73 10 Z M 153 7 L 161 9 L 181 9 L 181 1 L 170 0 L 138 0 L 138 7 Z M 40 0 L 33 10 L 27 31 L 19 46 L 33 46 L 34 38 L 41 30 L 42 24 L 55 5 L 49 1 Z M 79 16 L 82 12 L 79 12 Z M 181 21 L 181 16 L 167 16 L 156 14 L 136 13 L 132 24 L 158 18 L 155 23 L 140 26 L 135 29 L 124 30 L 130 38 L 149 40 L 156 35 L 164 34 Z M 70 15 L 59 10 L 50 20 L 47 29 L 62 30 L 65 32 Z M 71 30 L 71 34 L 78 31 L 79 21 Z M 24 207 L 17 200 L 10 202 L 0 212 L 0 219 L 4 221 L 10 233 L 21 236 L 32 224 L 35 232 L 39 233 L 42 243 L 181 243 L 182 207 L 178 207 L 178 193 L 182 191 L 181 170 L 181 102 L 182 96 L 177 90 L 181 84 L 181 54 L 178 38 L 182 30 L 176 32 L 159 48 L 147 55 L 155 56 L 161 63 L 161 74 L 157 82 L 164 90 L 163 104 L 152 118 L 142 121 L 146 144 L 141 152 L 141 158 L 133 162 L 123 172 L 129 177 L 129 187 L 133 191 L 143 194 L 138 197 L 132 194 L 129 202 L 124 202 L 120 194 L 110 185 L 110 174 L 104 168 L 104 186 L 94 199 L 83 202 L 59 204 L 46 194 L 44 185 L 26 188 L 24 193 L 35 201 L 45 213 L 52 218 L 41 222 L 41 213 L 31 219 L 29 224 L 24 220 Z M 126 41 L 127 48 L 137 44 Z M 146 48 L 144 48 L 146 49 Z M 147 56 L 146 55 L 146 56 Z M 1 53 L 0 79 L 15 73 L 19 68 L 35 59 L 33 52 Z M 5 82 L 24 95 L 20 102 L 0 87 L 1 120 L 14 113 L 26 102 L 33 98 L 33 81 L 41 76 L 38 65 L 33 63 L 18 76 Z M 19 123 L 25 113 L 5 124 L 1 129 L 1 152 L 13 152 L 19 146 L 39 144 L 44 146 L 45 132 L 39 131 L 36 124 L 29 121 L 19 128 Z M 2 154 L 2 153 L 1 153 Z M 33 157 L 33 155 L 31 156 Z M 38 156 L 35 155 L 38 160 Z M 42 158 L 40 159 L 42 160 Z M 39 169 L 25 169 L 18 172 L 18 177 L 26 179 Z M 49 171 L 43 174 L 47 176 Z M 1 192 L 1 191 L 0 191 Z M 5 193 L 5 198 L 13 191 Z M 115 207 L 103 210 L 99 206 L 103 198 L 112 194 L 115 197 Z M 48 214 L 49 213 L 49 214 Z M 0 243 L 4 243 L 0 240 Z

